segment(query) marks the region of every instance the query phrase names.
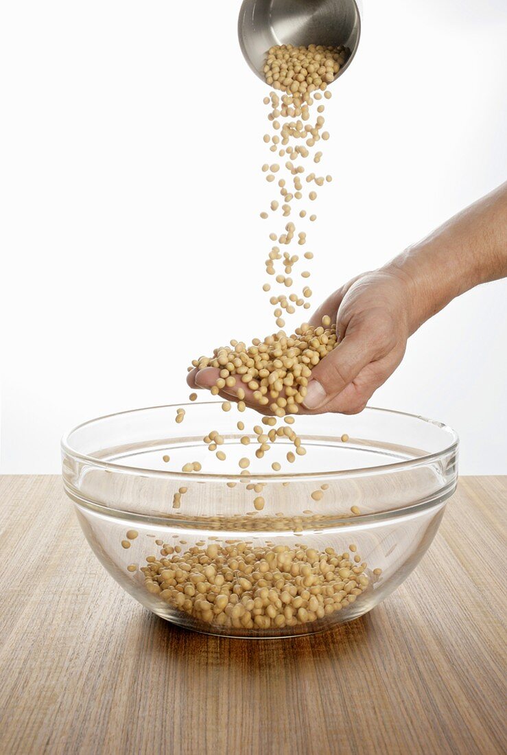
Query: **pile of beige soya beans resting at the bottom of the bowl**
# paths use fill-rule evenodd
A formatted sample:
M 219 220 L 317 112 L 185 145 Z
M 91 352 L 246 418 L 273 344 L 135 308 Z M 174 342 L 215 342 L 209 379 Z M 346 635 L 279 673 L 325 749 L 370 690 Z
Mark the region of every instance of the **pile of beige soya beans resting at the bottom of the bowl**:
M 182 553 L 179 545 L 157 544 L 160 556 L 148 556 L 140 568 L 145 589 L 218 627 L 283 629 L 317 621 L 348 608 L 371 580 L 354 544 L 350 553 L 238 541 L 201 542 Z M 380 573 L 373 569 L 373 578 Z

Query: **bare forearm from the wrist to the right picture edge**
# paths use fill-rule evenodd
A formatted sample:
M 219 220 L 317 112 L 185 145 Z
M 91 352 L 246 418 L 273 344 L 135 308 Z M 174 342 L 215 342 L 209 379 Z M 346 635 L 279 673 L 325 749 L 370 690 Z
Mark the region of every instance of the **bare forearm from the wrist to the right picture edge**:
M 411 332 L 456 296 L 507 276 L 507 183 L 452 217 L 383 269 L 407 283 Z

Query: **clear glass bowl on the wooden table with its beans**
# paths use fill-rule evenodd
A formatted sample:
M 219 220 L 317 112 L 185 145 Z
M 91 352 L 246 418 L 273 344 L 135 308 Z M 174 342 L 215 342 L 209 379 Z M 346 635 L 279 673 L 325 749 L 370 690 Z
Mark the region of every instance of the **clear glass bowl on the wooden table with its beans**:
M 290 464 L 290 439 L 257 459 L 260 415 L 221 404 L 183 405 L 181 423 L 178 405 L 112 414 L 63 438 L 63 484 L 97 558 L 143 606 L 205 633 L 308 634 L 373 609 L 435 537 L 456 433 L 386 409 L 300 416 L 306 455 Z M 225 461 L 203 442 L 212 430 Z

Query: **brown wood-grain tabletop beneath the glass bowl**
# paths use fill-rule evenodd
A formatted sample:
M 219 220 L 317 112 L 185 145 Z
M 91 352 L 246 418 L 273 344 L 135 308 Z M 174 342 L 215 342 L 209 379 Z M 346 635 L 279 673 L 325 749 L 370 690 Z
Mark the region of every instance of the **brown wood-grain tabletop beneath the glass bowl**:
M 92 555 L 57 476 L 0 478 L 0 501 L 2 755 L 507 749 L 507 477 L 461 479 L 429 553 L 373 612 L 290 641 L 150 614 Z

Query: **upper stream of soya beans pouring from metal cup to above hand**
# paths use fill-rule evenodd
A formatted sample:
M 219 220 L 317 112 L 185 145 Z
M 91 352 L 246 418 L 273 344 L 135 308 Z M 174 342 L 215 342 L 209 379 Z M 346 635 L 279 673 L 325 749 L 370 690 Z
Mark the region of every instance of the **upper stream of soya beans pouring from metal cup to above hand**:
M 278 193 L 281 199 L 272 199 L 269 210 L 272 213 L 280 210 L 282 217 L 295 217 L 295 222 L 287 221 L 281 233 L 269 233 L 269 239 L 276 243 L 269 251 L 266 273 L 275 276 L 275 282 L 284 288 L 293 288 L 293 268 L 300 268 L 301 260 L 299 254 L 290 254 L 289 251 L 282 254 L 281 247 L 297 243 L 302 247 L 300 253 L 304 259 L 313 259 L 313 252 L 307 248 L 307 231 L 303 225 L 308 216 L 308 205 L 301 208 L 298 205 L 306 200 L 315 202 L 318 196 L 315 188 L 330 183 L 332 178 L 329 174 L 324 176 L 318 175 L 315 171 L 308 171 L 304 163 L 309 159 L 315 165 L 321 162 L 321 150 L 316 149 L 312 153 L 312 149 L 320 140 L 325 141 L 329 138 L 329 133 L 323 131 L 323 98 L 330 99 L 331 93 L 326 89 L 327 84 L 333 81 L 340 66 L 346 62 L 347 55 L 348 51 L 345 48 L 279 45 L 270 48 L 266 58 L 266 83 L 272 85 L 275 91 L 263 101 L 269 106 L 268 120 L 274 134 L 265 134 L 263 139 L 270 145 L 270 151 L 277 153 L 284 161 L 281 165 L 278 162 L 272 165 L 265 163 L 262 168 L 269 183 L 274 183 L 278 177 Z M 306 183 L 306 190 L 303 182 Z M 262 211 L 260 217 L 267 220 L 270 216 L 267 211 Z M 315 213 L 309 214 L 310 222 L 316 219 Z M 276 262 L 281 262 L 283 272 L 280 270 L 277 274 Z M 275 307 L 274 315 L 278 328 L 284 327 L 284 316 L 294 314 L 297 307 L 309 309 L 312 289 L 305 285 L 305 282 L 310 276 L 309 270 L 302 270 L 300 290 L 291 291 L 287 296 L 282 288 L 270 297 L 269 303 Z M 271 288 L 269 282 L 263 285 L 264 291 L 271 291 Z

